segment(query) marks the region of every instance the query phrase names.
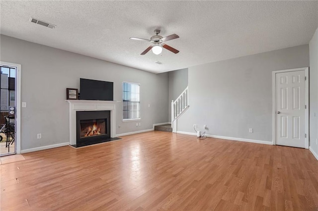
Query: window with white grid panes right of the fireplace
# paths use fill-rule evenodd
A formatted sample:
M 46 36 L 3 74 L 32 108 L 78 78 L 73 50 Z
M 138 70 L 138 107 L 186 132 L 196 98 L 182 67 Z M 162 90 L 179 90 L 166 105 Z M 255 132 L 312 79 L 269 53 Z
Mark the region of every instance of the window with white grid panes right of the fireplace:
M 123 83 L 123 119 L 140 118 L 140 85 Z

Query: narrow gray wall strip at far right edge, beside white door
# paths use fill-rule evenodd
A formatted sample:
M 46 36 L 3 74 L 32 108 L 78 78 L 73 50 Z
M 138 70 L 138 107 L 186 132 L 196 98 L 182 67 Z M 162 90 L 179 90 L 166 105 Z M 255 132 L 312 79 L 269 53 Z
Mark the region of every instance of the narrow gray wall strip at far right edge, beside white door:
M 318 155 L 318 29 L 309 43 L 310 51 L 310 148 Z M 315 115 L 316 114 L 316 115 Z

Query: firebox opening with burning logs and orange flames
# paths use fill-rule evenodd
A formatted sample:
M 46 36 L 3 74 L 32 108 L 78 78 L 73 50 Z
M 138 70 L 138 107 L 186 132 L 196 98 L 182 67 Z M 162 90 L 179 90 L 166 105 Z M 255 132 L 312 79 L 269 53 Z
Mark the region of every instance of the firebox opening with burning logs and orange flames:
M 105 134 L 105 121 L 101 120 L 92 120 L 90 122 L 81 122 L 80 123 L 80 137 L 89 137 L 89 136 L 98 136 Z

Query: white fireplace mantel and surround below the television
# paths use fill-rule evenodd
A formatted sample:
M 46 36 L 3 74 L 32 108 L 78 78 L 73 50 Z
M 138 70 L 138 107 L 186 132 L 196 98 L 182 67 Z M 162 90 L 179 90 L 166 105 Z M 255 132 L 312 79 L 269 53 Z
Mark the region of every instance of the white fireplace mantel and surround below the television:
M 76 145 L 76 111 L 110 110 L 110 137 L 116 137 L 116 101 L 67 100 L 70 104 L 70 145 Z

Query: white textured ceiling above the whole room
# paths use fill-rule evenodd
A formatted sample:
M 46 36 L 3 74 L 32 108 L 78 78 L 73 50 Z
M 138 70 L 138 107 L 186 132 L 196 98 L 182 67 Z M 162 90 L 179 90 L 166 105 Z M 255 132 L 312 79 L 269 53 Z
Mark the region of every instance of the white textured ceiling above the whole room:
M 55 29 L 29 22 L 34 17 Z M 308 44 L 318 1 L 0 1 L 0 33 L 160 73 Z M 162 55 L 140 55 L 160 29 Z M 160 61 L 162 64 L 155 62 Z

